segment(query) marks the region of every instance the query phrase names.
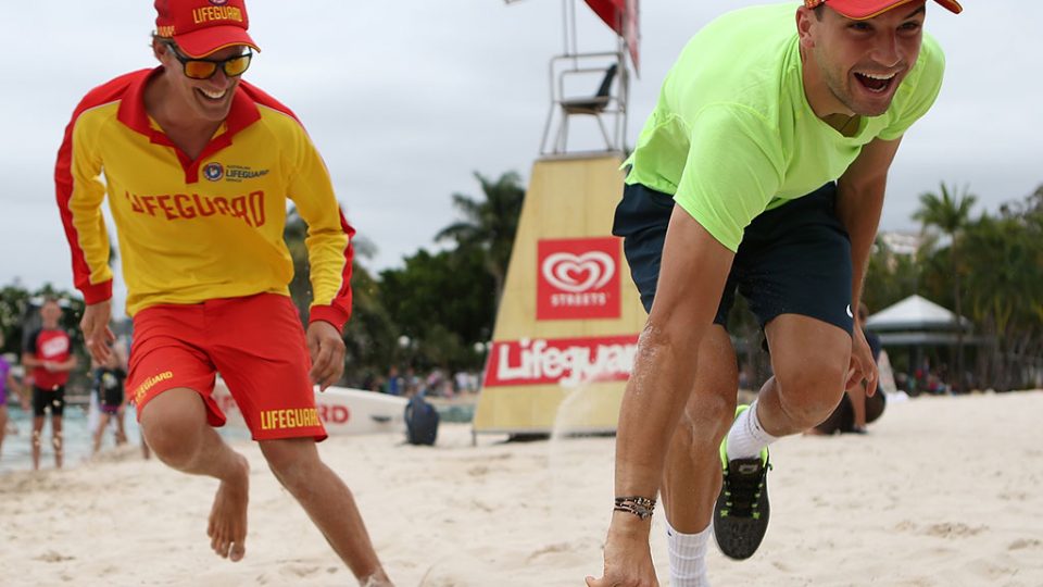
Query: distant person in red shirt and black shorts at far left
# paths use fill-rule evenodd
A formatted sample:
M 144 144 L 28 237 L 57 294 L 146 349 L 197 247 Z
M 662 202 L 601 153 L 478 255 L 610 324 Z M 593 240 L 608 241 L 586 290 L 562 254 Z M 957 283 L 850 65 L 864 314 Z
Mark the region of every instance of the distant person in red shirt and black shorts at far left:
M 33 370 L 33 469 L 40 469 L 40 435 L 43 419 L 51 413 L 51 446 L 54 466 L 62 467 L 62 414 L 65 411 L 65 383 L 76 369 L 76 355 L 68 334 L 61 328 L 62 309 L 54 299 L 40 308 L 43 325 L 29 335 L 22 351 L 22 365 Z

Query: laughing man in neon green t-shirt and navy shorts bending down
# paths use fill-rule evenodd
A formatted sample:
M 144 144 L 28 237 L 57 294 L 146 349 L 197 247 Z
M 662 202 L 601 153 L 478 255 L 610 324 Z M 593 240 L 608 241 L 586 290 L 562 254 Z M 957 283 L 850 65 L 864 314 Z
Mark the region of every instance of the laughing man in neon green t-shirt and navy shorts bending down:
M 619 414 L 604 576 L 590 587 L 656 585 L 649 529 L 661 491 L 671 586 L 707 585 L 711 527 L 726 555 L 751 557 L 768 523 L 768 444 L 818 424 L 845 387 L 876 389 L 851 309 L 891 161 L 941 87 L 926 3 L 731 12 L 668 74 L 613 228 L 649 322 Z M 725 328 L 737 289 L 775 373 L 738 411 Z

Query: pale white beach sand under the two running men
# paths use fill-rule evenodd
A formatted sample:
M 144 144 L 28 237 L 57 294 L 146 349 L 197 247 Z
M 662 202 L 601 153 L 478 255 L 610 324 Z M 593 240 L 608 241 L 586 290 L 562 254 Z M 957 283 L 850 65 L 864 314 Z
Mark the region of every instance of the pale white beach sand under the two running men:
M 716 586 L 1043 585 L 1043 392 L 918 398 L 867 437 L 796 437 L 772 453 L 771 527 Z M 495 444 L 445 425 L 435 449 L 330 439 L 399 586 L 582 586 L 599 574 L 612 438 Z M 0 476 L 0 585 L 355 585 L 251 444 L 240 563 L 204 529 L 215 482 L 123 451 Z M 653 555 L 667 584 L 662 513 Z

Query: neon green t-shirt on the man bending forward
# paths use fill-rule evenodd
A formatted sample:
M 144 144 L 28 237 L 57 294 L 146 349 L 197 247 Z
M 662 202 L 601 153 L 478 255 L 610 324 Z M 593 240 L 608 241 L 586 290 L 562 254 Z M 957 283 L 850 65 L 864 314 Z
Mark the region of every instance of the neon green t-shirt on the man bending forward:
M 837 179 L 872 139 L 901 137 L 941 89 L 945 58 L 925 34 L 888 111 L 843 136 L 807 103 L 795 11 L 743 9 L 700 30 L 625 163 L 627 184 L 673 195 L 732 251 L 754 217 Z

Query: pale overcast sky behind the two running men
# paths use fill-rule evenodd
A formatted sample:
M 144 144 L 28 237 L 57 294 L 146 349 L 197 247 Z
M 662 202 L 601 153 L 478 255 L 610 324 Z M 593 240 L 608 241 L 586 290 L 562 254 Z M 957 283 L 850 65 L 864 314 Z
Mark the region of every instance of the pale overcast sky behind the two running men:
M 629 145 L 692 34 L 754 3 L 643 2 Z M 579 49 L 613 49 L 611 32 L 578 4 Z M 917 196 L 943 180 L 969 187 L 979 212 L 1043 184 L 1043 1 L 964 7 L 956 16 L 928 2 L 946 79 L 903 141 L 883 229 L 916 229 Z M 263 52 L 247 78 L 307 127 L 349 221 L 377 246 L 370 268 L 432 247 L 456 217 L 450 196 L 479 195 L 474 171 L 527 180 L 550 105 L 548 62 L 563 51 L 561 0 L 248 0 L 248 9 Z M 54 155 L 84 93 L 154 64 L 154 17 L 148 0 L 0 0 L 0 285 L 72 288 Z

